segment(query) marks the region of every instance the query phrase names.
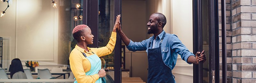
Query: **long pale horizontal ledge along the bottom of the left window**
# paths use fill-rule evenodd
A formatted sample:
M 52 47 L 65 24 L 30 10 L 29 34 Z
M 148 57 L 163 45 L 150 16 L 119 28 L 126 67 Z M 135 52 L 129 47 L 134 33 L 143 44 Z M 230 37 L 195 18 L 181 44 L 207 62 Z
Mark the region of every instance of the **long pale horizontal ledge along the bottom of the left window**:
M 0 82 L 12 83 L 74 83 L 76 79 L 1 79 Z

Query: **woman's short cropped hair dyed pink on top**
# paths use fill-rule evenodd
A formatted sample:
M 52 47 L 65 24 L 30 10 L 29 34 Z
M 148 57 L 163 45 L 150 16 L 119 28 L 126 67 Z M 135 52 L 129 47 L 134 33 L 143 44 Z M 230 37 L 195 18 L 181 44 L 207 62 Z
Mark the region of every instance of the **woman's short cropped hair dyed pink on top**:
M 84 34 L 84 29 L 85 28 L 89 28 L 89 26 L 87 26 L 87 25 L 78 25 L 78 26 L 76 26 L 74 29 L 73 29 L 73 37 L 76 39 L 76 41 L 80 41 L 79 39 L 80 39 L 80 37 L 81 36 L 84 36 L 83 34 Z

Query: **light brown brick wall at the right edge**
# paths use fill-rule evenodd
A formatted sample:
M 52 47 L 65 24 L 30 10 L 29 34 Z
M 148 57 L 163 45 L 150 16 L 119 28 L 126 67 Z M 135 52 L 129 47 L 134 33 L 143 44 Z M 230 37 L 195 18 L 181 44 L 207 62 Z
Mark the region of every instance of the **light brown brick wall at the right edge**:
M 219 29 L 221 10 L 219 0 Z M 226 0 L 228 83 L 256 83 L 256 0 Z M 220 36 L 220 77 L 222 50 Z M 220 83 L 222 79 L 220 78 Z

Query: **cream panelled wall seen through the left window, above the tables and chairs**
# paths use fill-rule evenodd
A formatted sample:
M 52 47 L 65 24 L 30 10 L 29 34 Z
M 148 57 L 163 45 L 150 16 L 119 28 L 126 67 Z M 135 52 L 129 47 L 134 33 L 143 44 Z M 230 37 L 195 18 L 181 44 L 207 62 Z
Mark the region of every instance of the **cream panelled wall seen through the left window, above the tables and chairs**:
M 51 0 L 10 0 L 0 18 L 0 36 L 10 39 L 9 63 L 14 58 L 38 61 L 40 66 L 58 64 L 58 9 Z M 7 3 L 0 3 L 4 10 Z

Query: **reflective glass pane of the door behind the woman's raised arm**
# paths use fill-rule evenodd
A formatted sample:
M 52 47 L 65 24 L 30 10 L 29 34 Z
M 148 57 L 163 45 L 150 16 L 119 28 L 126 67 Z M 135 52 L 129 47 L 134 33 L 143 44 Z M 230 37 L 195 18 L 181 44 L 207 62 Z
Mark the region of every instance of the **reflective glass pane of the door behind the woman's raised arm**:
M 108 44 L 109 38 L 114 27 L 114 0 L 98 0 L 99 1 L 99 48 Z M 93 33 L 92 33 L 93 34 Z M 114 50 L 115 51 L 115 50 Z M 114 79 L 114 51 L 107 55 L 100 57 L 102 61 L 102 68 L 110 70 L 108 75 Z

